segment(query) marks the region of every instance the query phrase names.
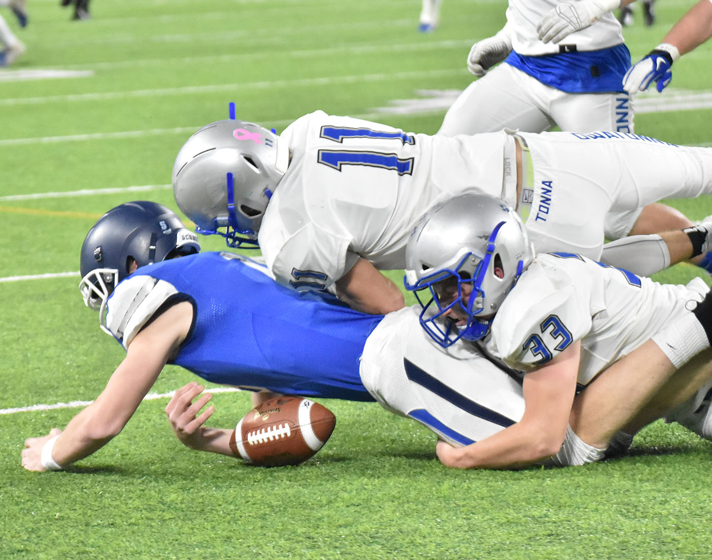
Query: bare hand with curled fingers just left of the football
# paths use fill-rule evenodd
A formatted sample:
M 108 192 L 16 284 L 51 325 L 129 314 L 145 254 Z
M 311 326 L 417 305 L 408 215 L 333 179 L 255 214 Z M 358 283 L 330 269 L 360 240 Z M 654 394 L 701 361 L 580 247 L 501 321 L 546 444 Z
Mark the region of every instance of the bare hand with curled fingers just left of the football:
M 203 424 L 215 412 L 215 407 L 210 405 L 200 415 L 200 410 L 209 402 L 213 395 L 205 393 L 193 402 L 205 388 L 195 381 L 184 385 L 176 391 L 173 398 L 166 405 L 166 416 L 171 423 L 173 433 L 186 447 L 203 449 L 206 445 Z

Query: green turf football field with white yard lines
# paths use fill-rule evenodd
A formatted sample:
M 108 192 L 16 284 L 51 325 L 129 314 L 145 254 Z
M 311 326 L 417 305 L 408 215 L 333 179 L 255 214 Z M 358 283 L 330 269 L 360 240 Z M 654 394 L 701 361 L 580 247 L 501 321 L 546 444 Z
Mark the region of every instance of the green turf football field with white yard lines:
M 637 14 L 633 58 L 692 3 L 660 1 L 651 28 Z M 0 559 L 712 558 L 712 445 L 662 422 L 622 460 L 460 472 L 415 422 L 325 400 L 338 419 L 328 444 L 267 470 L 174 439 L 163 395 L 193 376 L 169 367 L 103 450 L 66 472 L 21 468 L 25 438 L 66 425 L 124 355 L 77 289 L 100 214 L 130 199 L 177 209 L 174 157 L 229 101 L 278 130 L 323 109 L 434 133 L 443 99 L 471 80 L 471 43 L 501 28 L 504 8 L 444 0 L 429 35 L 416 0 L 95 0 L 78 22 L 28 0 L 22 30 L 1 12 L 27 53 L 0 71 Z M 636 132 L 712 145 L 711 62 L 702 46 L 663 95 L 640 96 Z M 712 214 L 708 198 L 671 204 Z M 698 274 L 678 265 L 656 279 Z M 234 425 L 248 403 L 216 393 L 211 425 Z

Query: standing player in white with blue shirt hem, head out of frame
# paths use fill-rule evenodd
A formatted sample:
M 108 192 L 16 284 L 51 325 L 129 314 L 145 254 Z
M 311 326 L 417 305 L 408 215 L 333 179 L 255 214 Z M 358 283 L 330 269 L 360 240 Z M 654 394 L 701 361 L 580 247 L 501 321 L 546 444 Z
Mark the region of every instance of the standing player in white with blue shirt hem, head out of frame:
M 540 133 L 553 126 L 633 133 L 631 90 L 622 87 L 630 53 L 610 11 L 619 4 L 629 1 L 509 1 L 504 28 L 471 48 L 467 66 L 479 79 L 451 105 L 438 134 Z M 652 204 L 610 213 L 605 232 L 619 239 L 691 225 L 676 209 Z

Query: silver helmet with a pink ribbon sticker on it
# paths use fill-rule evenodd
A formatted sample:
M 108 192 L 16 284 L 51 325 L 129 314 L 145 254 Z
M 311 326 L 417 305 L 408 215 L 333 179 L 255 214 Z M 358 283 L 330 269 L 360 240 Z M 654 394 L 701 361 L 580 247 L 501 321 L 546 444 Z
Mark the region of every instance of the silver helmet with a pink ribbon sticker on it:
M 197 232 L 222 235 L 229 247 L 256 247 L 267 204 L 288 165 L 289 147 L 278 135 L 244 120 L 218 120 L 178 152 L 173 195 Z

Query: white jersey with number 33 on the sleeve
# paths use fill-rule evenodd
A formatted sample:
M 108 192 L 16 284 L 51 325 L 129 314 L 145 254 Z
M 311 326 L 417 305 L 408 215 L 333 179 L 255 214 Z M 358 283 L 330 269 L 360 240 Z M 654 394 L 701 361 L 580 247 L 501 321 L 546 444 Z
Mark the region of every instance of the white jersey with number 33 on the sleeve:
M 700 278 L 687 286 L 658 284 L 570 253 L 538 255 L 492 323 L 488 350 L 518 369 L 543 365 L 581 341 L 578 383 L 654 336 L 689 301 L 702 301 Z

